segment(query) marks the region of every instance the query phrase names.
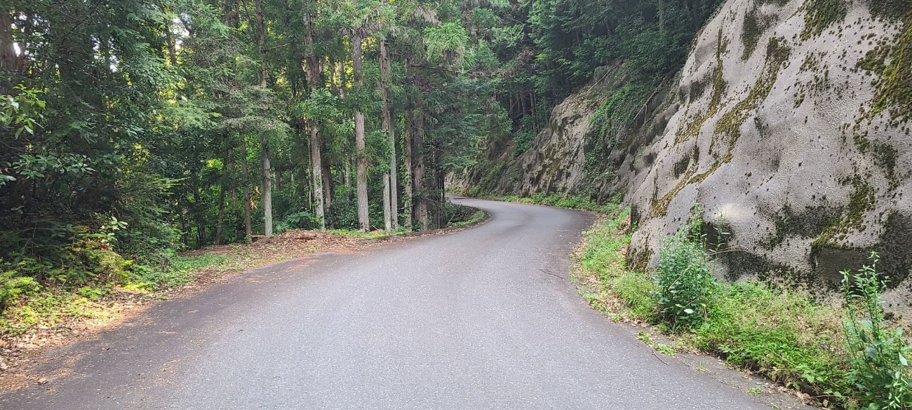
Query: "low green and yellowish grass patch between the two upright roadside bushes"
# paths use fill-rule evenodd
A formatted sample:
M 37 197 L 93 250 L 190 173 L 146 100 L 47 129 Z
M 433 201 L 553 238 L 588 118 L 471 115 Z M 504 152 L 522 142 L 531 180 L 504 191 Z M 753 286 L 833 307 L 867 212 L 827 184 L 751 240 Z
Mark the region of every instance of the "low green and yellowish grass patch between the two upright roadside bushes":
M 723 283 L 708 317 L 684 337 L 705 352 L 814 395 L 843 395 L 842 307 L 801 287 Z

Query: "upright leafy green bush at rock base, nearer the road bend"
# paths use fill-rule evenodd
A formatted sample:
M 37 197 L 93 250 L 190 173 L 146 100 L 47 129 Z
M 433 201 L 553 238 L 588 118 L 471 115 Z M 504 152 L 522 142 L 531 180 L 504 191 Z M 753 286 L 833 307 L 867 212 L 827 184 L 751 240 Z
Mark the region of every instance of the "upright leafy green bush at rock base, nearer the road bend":
M 654 276 L 657 290 L 653 294 L 659 318 L 676 330 L 702 323 L 719 290 L 713 261 L 706 251 L 706 235 L 700 232 L 700 211 L 696 208 L 689 223 L 669 235 L 658 252 Z

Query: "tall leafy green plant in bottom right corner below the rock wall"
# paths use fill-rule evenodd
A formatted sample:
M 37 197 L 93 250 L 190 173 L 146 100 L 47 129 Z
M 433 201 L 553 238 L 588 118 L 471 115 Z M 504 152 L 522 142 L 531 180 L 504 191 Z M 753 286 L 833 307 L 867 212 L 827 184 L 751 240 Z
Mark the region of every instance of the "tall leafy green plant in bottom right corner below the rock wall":
M 845 337 L 852 371 L 848 380 L 855 384 L 870 409 L 912 407 L 909 390 L 910 348 L 901 327 L 886 322 L 880 294 L 886 288 L 877 271 L 877 253 L 871 264 L 857 272 L 842 272 L 845 295 Z

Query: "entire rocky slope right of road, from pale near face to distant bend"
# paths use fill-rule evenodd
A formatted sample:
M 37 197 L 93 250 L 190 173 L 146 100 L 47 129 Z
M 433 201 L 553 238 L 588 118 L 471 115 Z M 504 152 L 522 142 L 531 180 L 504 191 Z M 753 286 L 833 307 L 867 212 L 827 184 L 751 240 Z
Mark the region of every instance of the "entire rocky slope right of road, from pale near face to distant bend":
M 912 272 L 912 3 L 730 0 L 679 76 L 605 67 L 531 149 L 490 149 L 459 183 L 500 193 L 616 192 L 634 261 L 700 203 L 730 232 L 724 272 L 835 283 L 878 251 L 890 301 Z M 455 180 L 454 180 L 455 182 Z M 707 231 L 711 231 L 708 227 Z

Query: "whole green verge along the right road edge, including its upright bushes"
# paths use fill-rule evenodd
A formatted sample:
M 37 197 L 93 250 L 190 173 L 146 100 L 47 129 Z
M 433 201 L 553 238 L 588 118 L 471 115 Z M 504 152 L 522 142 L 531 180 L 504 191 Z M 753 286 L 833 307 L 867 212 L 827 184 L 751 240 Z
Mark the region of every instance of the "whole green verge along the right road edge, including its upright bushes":
M 720 281 L 712 274 L 712 254 L 720 250 L 707 246 L 696 216 L 666 239 L 657 266 L 635 271 L 627 263 L 635 227 L 618 200 L 599 205 L 556 195 L 492 199 L 602 214 L 584 232 L 574 277 L 580 293 L 612 320 L 653 325 L 682 347 L 764 374 L 820 405 L 912 408 L 906 359 L 912 348 L 885 319 L 883 282 L 874 264 L 845 272 L 844 297 L 828 300 L 797 283 Z M 649 343 L 648 337 L 641 340 Z

